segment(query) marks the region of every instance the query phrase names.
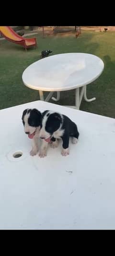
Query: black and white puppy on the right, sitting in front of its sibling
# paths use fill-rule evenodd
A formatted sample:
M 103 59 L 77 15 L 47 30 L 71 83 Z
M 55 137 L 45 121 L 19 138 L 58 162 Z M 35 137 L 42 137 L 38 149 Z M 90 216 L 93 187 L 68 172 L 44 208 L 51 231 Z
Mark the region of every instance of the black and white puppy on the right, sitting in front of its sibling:
M 42 113 L 42 122 L 40 129 L 40 138 L 43 139 L 41 145 L 40 157 L 46 156 L 46 149 L 49 142 L 52 147 L 58 146 L 58 140 L 62 139 L 62 156 L 69 155 L 69 137 L 72 137 L 72 143 L 77 143 L 79 132 L 77 125 L 69 117 L 57 112 L 46 110 Z

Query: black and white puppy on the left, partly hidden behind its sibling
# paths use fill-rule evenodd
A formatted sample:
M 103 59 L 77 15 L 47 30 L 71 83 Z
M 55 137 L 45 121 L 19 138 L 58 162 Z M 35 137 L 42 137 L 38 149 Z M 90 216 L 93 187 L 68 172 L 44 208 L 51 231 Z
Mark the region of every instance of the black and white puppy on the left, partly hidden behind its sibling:
M 38 138 L 40 131 L 42 114 L 36 109 L 26 109 L 23 111 L 22 121 L 25 134 L 32 139 L 32 150 L 30 155 L 34 156 L 38 152 Z

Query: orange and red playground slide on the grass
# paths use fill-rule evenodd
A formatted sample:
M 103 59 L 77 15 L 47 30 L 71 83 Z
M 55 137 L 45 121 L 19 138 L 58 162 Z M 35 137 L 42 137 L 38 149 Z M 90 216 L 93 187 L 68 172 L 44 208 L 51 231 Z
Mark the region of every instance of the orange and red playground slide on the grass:
M 7 40 L 22 45 L 25 49 L 36 47 L 36 38 L 24 38 L 19 36 L 10 26 L 0 26 L 0 34 Z

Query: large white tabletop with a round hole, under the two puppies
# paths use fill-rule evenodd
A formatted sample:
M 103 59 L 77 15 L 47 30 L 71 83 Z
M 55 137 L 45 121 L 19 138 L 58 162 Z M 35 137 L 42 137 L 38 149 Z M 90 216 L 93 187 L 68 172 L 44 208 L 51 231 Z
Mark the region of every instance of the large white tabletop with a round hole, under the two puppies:
M 70 154 L 31 157 L 25 108 L 59 111 L 77 123 Z M 0 229 L 115 229 L 115 119 L 35 101 L 0 110 Z M 16 151 L 22 158 L 10 159 Z

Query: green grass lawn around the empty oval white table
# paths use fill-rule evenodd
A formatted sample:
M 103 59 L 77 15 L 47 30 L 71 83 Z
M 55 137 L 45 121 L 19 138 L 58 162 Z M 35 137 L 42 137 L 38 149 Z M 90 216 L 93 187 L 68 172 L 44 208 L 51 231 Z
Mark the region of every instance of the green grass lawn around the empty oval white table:
M 83 31 L 81 37 L 56 35 L 42 38 L 35 35 L 38 49 L 27 52 L 19 45 L 6 40 L 0 41 L 0 109 L 9 108 L 39 99 L 38 91 L 32 90 L 22 81 L 24 69 L 40 59 L 44 49 L 53 54 L 85 52 L 97 55 L 104 61 L 104 72 L 87 86 L 87 97 L 95 101 L 81 102 L 81 110 L 115 118 L 115 32 Z M 47 95 L 47 92 L 45 93 Z M 61 92 L 57 102 L 60 105 L 73 105 L 75 90 Z M 50 102 L 53 102 L 50 100 Z

